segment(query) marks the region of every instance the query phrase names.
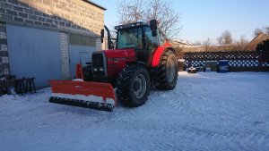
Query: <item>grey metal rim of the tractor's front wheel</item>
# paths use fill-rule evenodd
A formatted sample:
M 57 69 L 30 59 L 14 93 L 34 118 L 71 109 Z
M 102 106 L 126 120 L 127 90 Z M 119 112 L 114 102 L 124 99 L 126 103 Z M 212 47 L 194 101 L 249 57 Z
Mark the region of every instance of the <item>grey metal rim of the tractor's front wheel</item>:
M 147 82 L 143 74 L 138 74 L 134 79 L 134 96 L 142 98 L 146 92 Z

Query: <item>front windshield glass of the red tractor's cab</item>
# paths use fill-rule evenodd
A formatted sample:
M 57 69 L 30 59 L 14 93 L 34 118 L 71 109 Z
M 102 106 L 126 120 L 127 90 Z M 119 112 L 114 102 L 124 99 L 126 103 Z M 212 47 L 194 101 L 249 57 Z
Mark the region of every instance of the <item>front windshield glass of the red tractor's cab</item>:
M 142 49 L 142 28 L 120 29 L 117 31 L 117 49 Z

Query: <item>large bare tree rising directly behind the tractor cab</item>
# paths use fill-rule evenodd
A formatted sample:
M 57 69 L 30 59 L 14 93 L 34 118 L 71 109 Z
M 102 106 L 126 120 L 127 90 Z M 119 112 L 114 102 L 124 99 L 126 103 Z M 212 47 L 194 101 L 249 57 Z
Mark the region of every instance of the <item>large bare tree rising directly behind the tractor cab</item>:
M 120 23 L 155 19 L 164 39 L 176 38 L 182 28 L 179 14 L 167 0 L 118 0 L 117 17 Z

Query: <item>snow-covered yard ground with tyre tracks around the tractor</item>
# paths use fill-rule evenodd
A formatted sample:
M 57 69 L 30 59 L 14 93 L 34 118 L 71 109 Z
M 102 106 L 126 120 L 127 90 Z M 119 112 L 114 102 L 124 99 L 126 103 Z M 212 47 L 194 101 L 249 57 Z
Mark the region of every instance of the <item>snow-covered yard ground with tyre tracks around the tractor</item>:
M 268 72 L 178 72 L 177 88 L 113 113 L 0 97 L 0 150 L 269 150 Z

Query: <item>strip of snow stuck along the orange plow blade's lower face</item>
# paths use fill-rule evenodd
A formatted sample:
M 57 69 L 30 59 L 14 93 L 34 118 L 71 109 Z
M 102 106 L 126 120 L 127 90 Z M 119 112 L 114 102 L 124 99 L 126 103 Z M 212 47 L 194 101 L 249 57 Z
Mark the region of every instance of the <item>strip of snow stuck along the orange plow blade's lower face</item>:
M 75 99 L 75 100 L 90 101 L 90 102 L 95 102 L 95 103 L 107 103 L 107 104 L 112 105 L 112 106 L 115 105 L 115 101 L 113 98 L 106 98 L 104 100 L 102 96 L 69 95 L 69 94 L 62 94 L 62 93 L 52 93 L 51 96 L 60 97 L 60 98 L 69 98 L 69 99 Z

